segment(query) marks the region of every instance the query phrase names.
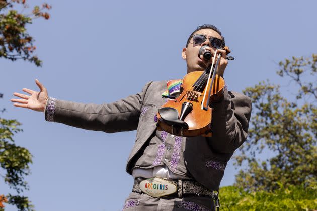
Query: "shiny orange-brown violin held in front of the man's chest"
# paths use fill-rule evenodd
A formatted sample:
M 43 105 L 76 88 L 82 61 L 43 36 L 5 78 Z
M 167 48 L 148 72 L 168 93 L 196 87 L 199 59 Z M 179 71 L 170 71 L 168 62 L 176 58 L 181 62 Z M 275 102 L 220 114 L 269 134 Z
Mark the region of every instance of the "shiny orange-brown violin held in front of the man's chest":
M 227 53 L 231 51 L 226 46 Z M 217 49 L 218 50 L 218 49 Z M 212 108 L 224 92 L 224 79 L 216 74 L 221 55 L 217 50 L 212 64 L 205 71 L 194 71 L 185 75 L 180 95 L 168 100 L 157 112 L 157 129 L 177 136 L 212 136 Z M 216 59 L 217 56 L 217 59 Z M 234 58 L 228 58 L 233 60 Z M 215 64 L 215 60 L 216 64 Z

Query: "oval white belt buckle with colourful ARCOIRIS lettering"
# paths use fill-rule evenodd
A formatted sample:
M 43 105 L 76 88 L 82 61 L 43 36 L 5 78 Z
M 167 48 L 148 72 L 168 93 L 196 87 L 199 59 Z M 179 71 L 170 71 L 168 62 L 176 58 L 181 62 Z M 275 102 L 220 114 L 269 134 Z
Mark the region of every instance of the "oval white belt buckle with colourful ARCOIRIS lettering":
M 154 198 L 170 195 L 177 191 L 176 185 L 159 177 L 144 179 L 140 182 L 139 187 L 142 192 Z

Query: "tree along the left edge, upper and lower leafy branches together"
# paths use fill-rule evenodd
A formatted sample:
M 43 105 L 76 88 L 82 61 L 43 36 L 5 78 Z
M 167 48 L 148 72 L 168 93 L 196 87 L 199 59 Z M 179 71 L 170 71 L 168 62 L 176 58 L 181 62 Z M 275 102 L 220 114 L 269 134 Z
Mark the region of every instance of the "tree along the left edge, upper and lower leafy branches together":
M 51 9 L 51 6 L 35 6 L 29 14 L 19 13 L 13 10 L 14 7 L 26 11 L 29 6 L 25 0 L 0 0 L 0 57 L 11 61 L 23 59 L 41 66 L 42 61 L 34 55 L 34 39 L 27 32 L 26 26 L 32 24 L 35 18 L 49 19 L 45 11 Z M 3 94 L 0 94 L 2 97 Z M 0 192 L 0 211 L 4 210 L 4 203 L 15 205 L 18 210 L 33 210 L 28 197 L 21 195 L 28 189 L 25 176 L 30 173 L 32 155 L 28 149 L 14 142 L 14 134 L 22 131 L 20 125 L 17 120 L 0 117 L 0 177 L 17 193 L 5 196 Z

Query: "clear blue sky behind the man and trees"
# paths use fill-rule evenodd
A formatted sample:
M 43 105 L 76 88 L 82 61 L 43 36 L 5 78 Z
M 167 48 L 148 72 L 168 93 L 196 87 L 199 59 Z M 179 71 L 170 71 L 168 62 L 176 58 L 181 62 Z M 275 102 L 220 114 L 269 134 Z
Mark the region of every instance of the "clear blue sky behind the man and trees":
M 267 78 L 285 85 L 275 74 L 277 63 L 316 53 L 316 1 L 47 3 L 53 6 L 51 19 L 28 27 L 43 67 L 0 59 L 0 108 L 7 109 L 2 117 L 23 124 L 15 140 L 34 156 L 25 195 L 36 210 L 121 210 L 133 184 L 125 164 L 135 132 L 85 131 L 13 107 L 12 93 L 37 89 L 35 78 L 51 97 L 112 102 L 139 92 L 150 80 L 182 78 L 181 50 L 190 33 L 205 23 L 221 30 L 235 57 L 224 75 L 231 90 Z M 122 52 L 127 56 L 120 57 Z M 229 162 L 221 185 L 232 184 L 235 173 Z M 8 191 L 1 180 L 0 193 Z

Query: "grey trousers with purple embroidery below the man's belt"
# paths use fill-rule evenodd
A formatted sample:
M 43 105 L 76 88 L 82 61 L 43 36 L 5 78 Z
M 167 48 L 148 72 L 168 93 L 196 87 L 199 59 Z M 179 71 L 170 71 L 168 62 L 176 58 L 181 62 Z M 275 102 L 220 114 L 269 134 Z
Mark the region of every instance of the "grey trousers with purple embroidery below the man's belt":
M 145 193 L 131 192 L 125 200 L 124 211 L 214 211 L 211 197 L 188 195 L 185 197 L 164 196 L 154 198 Z

